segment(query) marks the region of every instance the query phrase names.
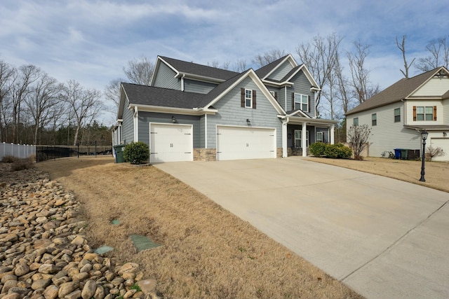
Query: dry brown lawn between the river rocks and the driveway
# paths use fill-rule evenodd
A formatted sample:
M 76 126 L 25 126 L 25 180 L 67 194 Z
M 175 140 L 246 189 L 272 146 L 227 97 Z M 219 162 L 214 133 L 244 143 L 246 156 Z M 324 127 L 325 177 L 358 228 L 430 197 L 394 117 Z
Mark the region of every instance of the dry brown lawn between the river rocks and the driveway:
M 155 167 L 112 158 L 37 166 L 72 190 L 94 248 L 139 263 L 163 298 L 361 298 L 208 197 Z M 119 219 L 120 225 L 112 225 Z M 136 252 L 129 235 L 163 244 Z

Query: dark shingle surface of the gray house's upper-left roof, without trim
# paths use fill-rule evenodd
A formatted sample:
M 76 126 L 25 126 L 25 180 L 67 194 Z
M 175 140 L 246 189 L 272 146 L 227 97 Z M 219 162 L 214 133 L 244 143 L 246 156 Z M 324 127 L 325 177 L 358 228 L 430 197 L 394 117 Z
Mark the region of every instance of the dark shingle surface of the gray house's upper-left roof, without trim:
M 185 62 L 182 60 L 175 60 L 170 57 L 159 56 L 164 61 L 168 62 L 180 73 L 194 74 L 197 76 L 205 76 L 210 78 L 216 78 L 220 80 L 227 80 L 236 76 L 237 72 L 228 71 L 227 69 L 217 69 L 216 67 L 208 67 L 202 64 L 196 64 L 193 62 Z

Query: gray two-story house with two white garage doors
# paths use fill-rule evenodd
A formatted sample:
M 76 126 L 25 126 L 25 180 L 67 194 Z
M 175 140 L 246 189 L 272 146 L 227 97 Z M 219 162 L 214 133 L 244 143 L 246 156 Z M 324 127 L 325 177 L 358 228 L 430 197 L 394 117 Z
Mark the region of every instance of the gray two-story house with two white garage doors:
M 292 55 L 242 73 L 158 56 L 151 86 L 121 83 L 113 142 L 150 162 L 305 156 L 337 123 L 316 118 L 316 86 Z

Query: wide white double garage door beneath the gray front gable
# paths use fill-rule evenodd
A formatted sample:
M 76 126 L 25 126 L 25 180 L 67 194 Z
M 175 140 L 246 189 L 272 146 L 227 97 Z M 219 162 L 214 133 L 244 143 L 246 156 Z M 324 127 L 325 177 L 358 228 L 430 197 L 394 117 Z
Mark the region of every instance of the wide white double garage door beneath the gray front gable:
M 276 129 L 217 126 L 217 160 L 276 158 Z

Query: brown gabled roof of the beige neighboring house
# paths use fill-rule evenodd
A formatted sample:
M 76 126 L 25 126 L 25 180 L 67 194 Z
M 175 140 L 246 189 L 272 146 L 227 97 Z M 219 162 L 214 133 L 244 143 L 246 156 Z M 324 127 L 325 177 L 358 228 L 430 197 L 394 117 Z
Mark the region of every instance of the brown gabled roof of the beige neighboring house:
M 362 104 L 356 106 L 354 109 L 348 111 L 346 115 L 348 116 L 350 114 L 366 111 L 388 104 L 393 104 L 401 101 L 402 99 L 407 99 L 418 88 L 420 88 L 422 85 L 424 85 L 424 83 L 438 74 L 438 72 L 442 69 L 445 70 L 446 73 L 448 73 L 448 70 L 445 69 L 445 67 L 438 67 L 437 69 L 432 69 L 431 71 L 427 71 L 413 78 L 402 78 L 393 85 L 390 85 L 388 88 L 385 88 L 382 92 L 374 95 L 366 102 L 363 102 Z M 446 92 L 446 94 L 447 93 L 448 92 Z

